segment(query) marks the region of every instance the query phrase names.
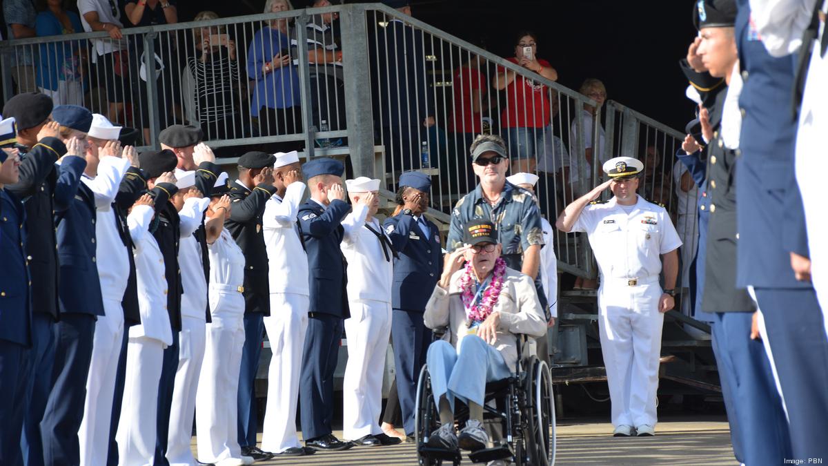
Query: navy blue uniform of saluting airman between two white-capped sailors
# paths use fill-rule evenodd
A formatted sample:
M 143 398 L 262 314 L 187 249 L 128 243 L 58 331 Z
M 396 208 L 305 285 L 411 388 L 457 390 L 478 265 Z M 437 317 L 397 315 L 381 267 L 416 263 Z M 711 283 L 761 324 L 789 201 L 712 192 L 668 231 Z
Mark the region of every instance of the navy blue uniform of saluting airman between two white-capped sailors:
M 344 236 L 341 223 L 350 210 L 345 201 L 335 199 L 323 207 L 309 199 L 296 214 L 310 280 L 308 328 L 299 380 L 302 436 L 306 441 L 332 432 L 334 370 L 343 321 L 351 317 L 345 291 L 346 264 L 339 249 Z

